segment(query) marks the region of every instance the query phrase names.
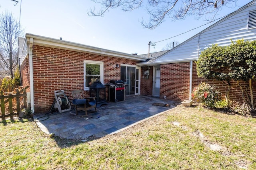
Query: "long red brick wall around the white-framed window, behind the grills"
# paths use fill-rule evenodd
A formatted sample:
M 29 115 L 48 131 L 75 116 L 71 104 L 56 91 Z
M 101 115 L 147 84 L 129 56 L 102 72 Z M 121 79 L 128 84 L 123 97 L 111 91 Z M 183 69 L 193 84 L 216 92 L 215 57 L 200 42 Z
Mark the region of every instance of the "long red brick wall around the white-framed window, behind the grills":
M 104 62 L 104 82 L 102 83 L 120 79 L 120 68 L 116 68 L 116 64 L 136 64 L 136 61 L 128 59 L 34 45 L 34 109 L 36 113 L 50 110 L 55 90 L 64 90 L 72 100 L 72 90 L 84 89 L 84 60 Z M 84 94 L 86 97 L 90 95 L 89 91 Z

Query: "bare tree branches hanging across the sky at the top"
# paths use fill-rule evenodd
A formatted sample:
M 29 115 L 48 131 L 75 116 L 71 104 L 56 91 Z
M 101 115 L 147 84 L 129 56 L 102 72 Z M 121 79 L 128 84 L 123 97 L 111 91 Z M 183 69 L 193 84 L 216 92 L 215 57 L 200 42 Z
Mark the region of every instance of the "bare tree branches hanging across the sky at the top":
M 143 2 L 146 4 L 145 8 L 150 18 L 145 22 L 142 18 L 142 26 L 149 29 L 154 29 L 164 19 L 170 20 L 185 19 L 186 16 L 194 15 L 196 19 L 201 18 L 206 14 L 213 14 L 210 21 L 214 20 L 218 11 L 222 6 L 235 4 L 237 0 L 92 0 L 100 4 L 101 9 L 95 12 L 90 9 L 89 16 L 104 16 L 106 12 L 113 8 L 121 8 L 123 11 L 131 11 L 140 8 Z M 145 5 L 144 4 L 144 5 Z

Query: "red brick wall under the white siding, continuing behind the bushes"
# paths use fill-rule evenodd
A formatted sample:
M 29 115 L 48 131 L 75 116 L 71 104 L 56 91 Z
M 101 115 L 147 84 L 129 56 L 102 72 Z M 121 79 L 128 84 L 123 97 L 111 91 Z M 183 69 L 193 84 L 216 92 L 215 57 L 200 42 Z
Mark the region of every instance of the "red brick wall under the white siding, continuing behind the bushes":
M 161 78 L 160 78 L 160 98 L 165 95 L 167 99 L 181 102 L 188 99 L 189 94 L 189 81 L 190 81 L 190 62 L 187 63 L 173 63 L 161 65 Z M 225 98 L 228 87 L 221 81 L 205 80 L 198 78 L 196 72 L 196 63 L 193 63 L 192 74 L 192 88 L 197 86 L 200 82 L 207 82 L 218 86 L 218 90 L 222 92 L 222 98 Z M 243 87 L 248 86 L 248 83 L 242 82 Z M 230 99 L 236 102 L 243 102 L 240 87 L 236 82 L 231 82 L 232 89 L 230 90 Z M 256 89 L 256 82 L 253 81 L 253 87 Z M 182 90 L 182 88 L 184 88 Z M 182 94 L 181 92 L 187 92 Z M 256 95 L 256 92 L 254 92 Z

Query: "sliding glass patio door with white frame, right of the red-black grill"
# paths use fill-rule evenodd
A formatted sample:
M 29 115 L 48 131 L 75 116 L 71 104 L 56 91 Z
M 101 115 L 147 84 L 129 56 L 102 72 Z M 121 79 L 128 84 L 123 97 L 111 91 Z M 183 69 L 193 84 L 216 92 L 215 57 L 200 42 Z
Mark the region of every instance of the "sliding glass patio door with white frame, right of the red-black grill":
M 140 94 L 140 68 L 121 65 L 121 80 L 128 83 L 126 95 Z

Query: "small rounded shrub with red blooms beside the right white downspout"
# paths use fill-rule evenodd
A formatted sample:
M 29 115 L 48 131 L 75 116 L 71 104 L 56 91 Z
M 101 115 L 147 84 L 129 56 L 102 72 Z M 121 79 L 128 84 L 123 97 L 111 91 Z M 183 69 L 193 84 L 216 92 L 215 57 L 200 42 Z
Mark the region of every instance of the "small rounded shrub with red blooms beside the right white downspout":
M 201 102 L 206 107 L 215 107 L 216 102 L 220 101 L 220 92 L 217 86 L 201 82 L 193 90 L 192 97 L 197 102 Z

